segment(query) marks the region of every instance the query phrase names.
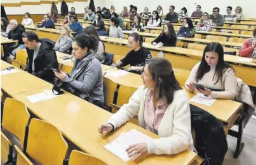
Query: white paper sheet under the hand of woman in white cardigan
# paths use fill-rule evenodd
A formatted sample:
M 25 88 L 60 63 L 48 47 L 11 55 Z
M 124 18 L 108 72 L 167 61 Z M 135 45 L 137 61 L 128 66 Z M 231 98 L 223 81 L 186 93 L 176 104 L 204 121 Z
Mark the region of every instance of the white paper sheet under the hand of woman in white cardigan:
M 104 148 L 114 153 L 114 155 L 123 161 L 127 162 L 129 157 L 125 149 L 127 149 L 128 146 L 142 142 L 149 142 L 150 140 L 153 140 L 153 138 L 148 137 L 136 129 L 131 129 L 127 133 L 121 134 L 118 138 L 105 145 Z

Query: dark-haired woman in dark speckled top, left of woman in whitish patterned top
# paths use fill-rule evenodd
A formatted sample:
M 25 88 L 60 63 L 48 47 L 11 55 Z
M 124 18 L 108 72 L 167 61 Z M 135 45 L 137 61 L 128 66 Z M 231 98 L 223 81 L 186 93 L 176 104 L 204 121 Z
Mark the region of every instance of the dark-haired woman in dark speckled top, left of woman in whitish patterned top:
M 183 20 L 183 26 L 179 28 L 177 36 L 184 38 L 194 38 L 195 34 L 196 28 L 194 28 L 192 20 L 189 17 L 185 17 Z

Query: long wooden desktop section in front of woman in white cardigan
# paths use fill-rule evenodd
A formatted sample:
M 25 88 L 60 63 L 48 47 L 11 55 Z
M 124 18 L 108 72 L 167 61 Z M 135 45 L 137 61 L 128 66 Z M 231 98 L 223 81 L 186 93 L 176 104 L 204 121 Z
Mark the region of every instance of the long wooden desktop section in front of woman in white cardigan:
M 117 138 L 120 133 L 125 133 L 131 129 L 145 133 L 153 138 L 159 138 L 154 133 L 128 122 L 127 124 L 114 131 L 114 133 L 102 137 L 97 132 L 100 124 L 107 122 L 111 113 L 90 104 L 70 93 L 64 93 L 57 98 L 31 104 L 25 96 L 41 93 L 51 87 L 17 94 L 14 98 L 25 103 L 27 107 L 39 118 L 56 126 L 71 142 L 83 149 L 86 153 L 95 155 L 107 164 L 189 164 L 196 158 L 196 153 L 184 151 L 177 155 L 148 155 L 148 157 L 136 162 L 123 162 L 123 160 L 103 148 L 110 141 Z

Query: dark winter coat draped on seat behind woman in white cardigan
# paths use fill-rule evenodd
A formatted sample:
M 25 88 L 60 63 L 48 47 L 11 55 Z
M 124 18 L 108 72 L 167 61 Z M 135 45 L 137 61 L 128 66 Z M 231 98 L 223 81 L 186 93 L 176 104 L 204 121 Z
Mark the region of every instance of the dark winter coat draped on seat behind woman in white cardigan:
M 205 165 L 222 164 L 227 152 L 227 139 L 222 122 L 192 104 L 190 104 L 190 113 L 191 126 L 196 133 L 194 146 L 198 155 L 205 159 Z

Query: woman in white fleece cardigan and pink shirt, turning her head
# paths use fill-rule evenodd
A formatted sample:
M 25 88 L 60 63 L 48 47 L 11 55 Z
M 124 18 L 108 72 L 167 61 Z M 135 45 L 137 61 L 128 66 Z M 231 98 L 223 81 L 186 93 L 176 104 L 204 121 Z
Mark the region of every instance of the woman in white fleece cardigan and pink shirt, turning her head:
M 138 124 L 161 138 L 129 146 L 126 151 L 131 160 L 143 153 L 172 155 L 192 150 L 189 101 L 171 63 L 164 58 L 146 63 L 142 74 L 144 86 L 138 88 L 129 103 L 113 114 L 107 124 L 99 127 L 99 133 L 114 131 L 138 113 Z

